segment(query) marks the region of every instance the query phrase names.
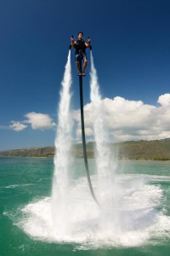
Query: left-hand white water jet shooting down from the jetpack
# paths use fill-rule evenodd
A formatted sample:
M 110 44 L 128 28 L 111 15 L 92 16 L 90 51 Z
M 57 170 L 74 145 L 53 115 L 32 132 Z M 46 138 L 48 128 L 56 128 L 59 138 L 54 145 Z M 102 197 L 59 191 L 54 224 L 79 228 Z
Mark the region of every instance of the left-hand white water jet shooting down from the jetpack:
M 69 166 L 71 166 L 71 50 L 65 65 L 65 73 L 60 91 L 58 125 L 55 138 L 54 180 L 52 191 L 52 218 L 54 229 L 60 234 L 68 227 L 65 218 L 67 189 L 69 185 Z

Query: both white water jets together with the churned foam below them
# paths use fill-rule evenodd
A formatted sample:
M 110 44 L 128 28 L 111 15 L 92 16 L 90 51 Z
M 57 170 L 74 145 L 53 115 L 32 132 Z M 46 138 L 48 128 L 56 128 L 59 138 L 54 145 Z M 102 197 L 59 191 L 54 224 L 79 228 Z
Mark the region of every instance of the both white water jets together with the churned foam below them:
M 91 55 L 91 99 L 94 105 L 94 132 L 98 152 L 100 186 L 97 195 L 99 195 L 100 207 L 97 207 L 89 196 L 85 177 L 80 175 L 74 183 L 71 183 L 69 177 L 71 171 L 69 110 L 71 54 L 69 53 L 60 92 L 52 198 L 33 201 L 22 209 L 19 207 L 19 220 L 16 219 L 15 212 L 3 214 L 14 218 L 14 224 L 18 222 L 18 226 L 34 239 L 59 243 L 71 242 L 74 247 L 79 243 L 76 249 L 81 250 L 83 247 L 85 249 L 105 246 L 134 247 L 150 242 L 150 238 L 153 238 L 155 243 L 155 238 L 161 236 L 166 238 L 170 230 L 170 218 L 161 209 L 159 210 L 163 195 L 161 185 L 154 184 L 157 177 L 153 175 L 147 176 L 153 183 L 146 184 L 145 175 L 126 174 L 116 177 L 112 171 L 110 150 L 106 144 L 105 116 L 92 57 Z M 80 161 L 77 160 L 77 174 L 80 172 Z M 112 177 L 115 177 L 115 180 Z M 168 181 L 167 176 L 162 177 L 162 181 L 165 180 Z M 95 181 L 94 177 L 92 181 L 94 190 L 97 188 Z M 120 202 L 117 207 L 112 195 Z M 50 214 L 51 205 L 53 218 Z M 21 220 L 20 216 L 22 216 Z

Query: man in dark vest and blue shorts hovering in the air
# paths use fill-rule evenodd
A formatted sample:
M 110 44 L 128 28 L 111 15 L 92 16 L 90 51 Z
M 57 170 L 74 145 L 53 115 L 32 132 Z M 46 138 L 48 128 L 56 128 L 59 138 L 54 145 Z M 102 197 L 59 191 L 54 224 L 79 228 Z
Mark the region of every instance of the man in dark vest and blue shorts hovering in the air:
M 71 47 L 75 48 L 75 59 L 77 62 L 77 69 L 79 76 L 85 76 L 86 67 L 88 66 L 88 58 L 86 55 L 86 48 L 90 47 L 90 38 L 88 38 L 88 42 L 83 40 L 83 32 L 78 32 L 77 41 L 71 37 Z M 81 70 L 80 61 L 83 60 L 83 67 Z

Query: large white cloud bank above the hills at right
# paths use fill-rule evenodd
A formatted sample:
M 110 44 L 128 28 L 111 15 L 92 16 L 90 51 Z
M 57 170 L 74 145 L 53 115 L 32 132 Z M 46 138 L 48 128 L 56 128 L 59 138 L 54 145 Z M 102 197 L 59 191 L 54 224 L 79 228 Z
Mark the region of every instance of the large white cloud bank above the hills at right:
M 105 129 L 111 141 L 152 140 L 170 137 L 170 94 L 159 96 L 161 106 L 144 104 L 141 101 L 129 101 L 120 96 L 102 100 Z M 93 134 L 92 103 L 84 107 L 85 127 Z M 81 136 L 79 110 L 73 112 L 77 122 L 77 139 Z M 89 130 L 88 130 L 89 129 Z

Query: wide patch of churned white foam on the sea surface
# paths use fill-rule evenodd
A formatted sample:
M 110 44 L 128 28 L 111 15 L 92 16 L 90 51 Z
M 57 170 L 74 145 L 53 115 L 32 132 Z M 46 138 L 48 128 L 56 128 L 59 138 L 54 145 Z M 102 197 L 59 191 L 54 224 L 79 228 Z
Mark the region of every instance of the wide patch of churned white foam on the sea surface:
M 141 181 L 139 189 L 136 187 L 137 178 L 139 183 Z M 93 177 L 92 181 L 94 189 L 97 189 L 97 177 Z M 68 189 L 65 212 L 65 218 L 69 219 L 67 232 L 61 232 L 57 224 L 54 230 L 50 197 L 22 208 L 22 221 L 18 225 L 34 239 L 80 243 L 81 248 L 82 245 L 84 248 L 133 247 L 149 242 L 151 238 L 168 236 L 170 218 L 161 209 L 161 187 L 144 183 L 141 176 L 134 180 L 133 175 L 126 178 L 117 176 L 114 186 L 122 188 L 119 189 L 121 195 L 118 195 L 120 204 L 115 209 L 115 202 L 110 201 L 109 208 L 103 206 L 101 209 L 89 196 L 85 177 L 73 183 Z

